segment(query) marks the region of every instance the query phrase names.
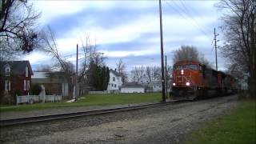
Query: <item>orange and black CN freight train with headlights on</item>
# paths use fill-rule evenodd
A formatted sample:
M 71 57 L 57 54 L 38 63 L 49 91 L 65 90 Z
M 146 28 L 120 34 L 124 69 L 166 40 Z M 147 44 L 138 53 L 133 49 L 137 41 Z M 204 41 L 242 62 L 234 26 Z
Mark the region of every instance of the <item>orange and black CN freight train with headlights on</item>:
M 177 100 L 194 100 L 236 91 L 230 74 L 213 70 L 200 62 L 179 61 L 174 64 L 172 96 Z

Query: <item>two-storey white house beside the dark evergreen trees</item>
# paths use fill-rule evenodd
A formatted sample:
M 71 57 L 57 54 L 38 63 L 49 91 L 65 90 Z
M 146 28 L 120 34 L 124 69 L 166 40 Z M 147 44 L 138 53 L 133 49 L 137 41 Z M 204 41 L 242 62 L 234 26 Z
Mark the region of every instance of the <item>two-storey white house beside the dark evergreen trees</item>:
M 110 82 L 107 86 L 107 90 L 120 90 L 122 86 L 122 74 L 119 74 L 116 70 L 110 70 Z

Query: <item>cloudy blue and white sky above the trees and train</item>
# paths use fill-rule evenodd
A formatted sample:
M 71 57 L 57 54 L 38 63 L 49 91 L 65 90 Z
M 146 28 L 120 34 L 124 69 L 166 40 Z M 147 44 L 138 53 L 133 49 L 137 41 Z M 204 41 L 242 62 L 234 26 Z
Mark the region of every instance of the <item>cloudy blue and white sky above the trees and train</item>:
M 50 26 L 62 55 L 75 62 L 76 44 L 86 35 L 96 40 L 106 56 L 106 65 L 115 68 L 118 58 L 126 70 L 134 66 L 161 66 L 158 1 L 31 1 L 42 13 L 39 26 Z M 215 66 L 212 50 L 214 27 L 221 34 L 218 1 L 163 1 L 162 22 L 164 54 L 172 65 L 174 50 L 182 45 L 196 46 Z M 81 48 L 81 47 L 80 47 Z M 46 54 L 34 51 L 24 59 L 33 69 L 52 64 Z M 220 54 L 218 65 L 225 70 Z

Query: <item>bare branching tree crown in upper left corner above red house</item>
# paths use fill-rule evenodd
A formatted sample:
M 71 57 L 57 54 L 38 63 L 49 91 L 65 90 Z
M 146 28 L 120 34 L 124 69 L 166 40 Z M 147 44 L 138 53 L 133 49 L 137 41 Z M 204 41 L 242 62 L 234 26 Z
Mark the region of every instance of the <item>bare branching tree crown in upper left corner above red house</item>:
M 35 28 L 39 15 L 26 0 L 2 0 L 0 11 L 0 58 L 30 52 L 38 43 Z M 0 60 L 1 60 L 0 59 Z

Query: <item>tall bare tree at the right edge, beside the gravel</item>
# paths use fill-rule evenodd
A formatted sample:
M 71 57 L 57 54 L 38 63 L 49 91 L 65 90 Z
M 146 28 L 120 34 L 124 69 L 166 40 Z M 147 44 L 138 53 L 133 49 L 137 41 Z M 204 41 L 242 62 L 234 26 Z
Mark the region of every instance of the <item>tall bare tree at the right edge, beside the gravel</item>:
M 256 94 L 256 2 L 254 0 L 222 0 L 218 7 L 225 10 L 222 30 L 226 42 L 222 54 L 231 67 L 249 75 L 250 95 Z M 233 70 L 234 71 L 234 70 Z

